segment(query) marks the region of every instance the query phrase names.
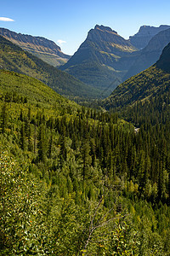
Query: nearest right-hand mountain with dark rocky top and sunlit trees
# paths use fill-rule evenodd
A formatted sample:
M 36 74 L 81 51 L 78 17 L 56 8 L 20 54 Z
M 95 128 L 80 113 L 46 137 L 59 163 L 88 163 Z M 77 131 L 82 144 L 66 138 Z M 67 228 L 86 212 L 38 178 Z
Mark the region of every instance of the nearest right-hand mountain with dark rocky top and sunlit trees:
M 163 49 L 161 57 L 155 65 L 117 86 L 111 96 L 104 100 L 104 106 L 106 109 L 119 109 L 132 108 L 136 106 L 135 104 L 140 104 L 138 105 L 139 108 L 144 108 L 145 103 L 147 103 L 145 114 L 152 108 L 159 110 L 160 113 L 162 109 L 168 108 L 170 113 L 169 83 L 170 44 Z

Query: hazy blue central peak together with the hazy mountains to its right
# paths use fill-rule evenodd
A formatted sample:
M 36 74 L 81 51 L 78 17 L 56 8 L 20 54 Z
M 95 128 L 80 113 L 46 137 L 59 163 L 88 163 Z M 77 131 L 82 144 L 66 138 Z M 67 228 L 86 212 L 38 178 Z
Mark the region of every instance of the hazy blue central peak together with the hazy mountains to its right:
M 125 40 L 110 27 L 96 25 L 88 32 L 88 37 L 71 59 L 59 68 L 109 95 L 117 84 L 158 60 L 161 50 L 170 42 L 169 33 L 165 33 L 166 36 L 161 41 L 159 36 L 152 43 L 150 39 L 169 28 L 170 26 L 142 26 L 136 35 Z M 144 48 L 146 44 L 148 46 Z M 148 56 L 145 57 L 146 52 Z

